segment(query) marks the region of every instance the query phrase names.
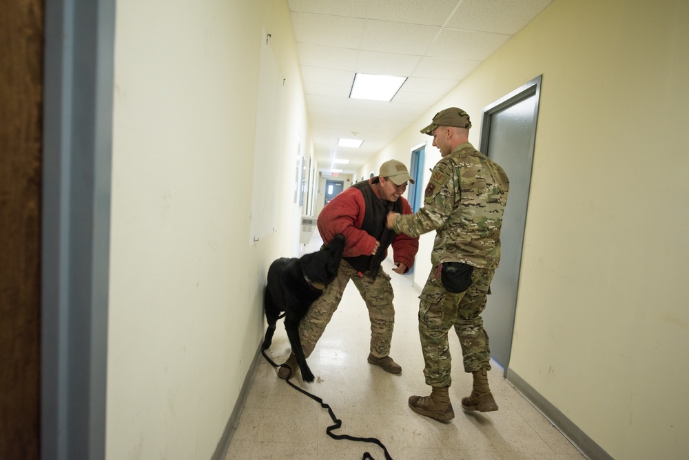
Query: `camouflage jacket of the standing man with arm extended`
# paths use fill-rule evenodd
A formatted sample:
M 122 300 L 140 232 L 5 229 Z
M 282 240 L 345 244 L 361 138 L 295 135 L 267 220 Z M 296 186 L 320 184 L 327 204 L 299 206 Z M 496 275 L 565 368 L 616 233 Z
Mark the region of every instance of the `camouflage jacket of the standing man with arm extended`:
M 496 268 L 509 181 L 504 170 L 473 148 L 457 146 L 440 159 L 426 186 L 424 207 L 398 216 L 394 230 L 411 237 L 436 230 L 431 263 Z

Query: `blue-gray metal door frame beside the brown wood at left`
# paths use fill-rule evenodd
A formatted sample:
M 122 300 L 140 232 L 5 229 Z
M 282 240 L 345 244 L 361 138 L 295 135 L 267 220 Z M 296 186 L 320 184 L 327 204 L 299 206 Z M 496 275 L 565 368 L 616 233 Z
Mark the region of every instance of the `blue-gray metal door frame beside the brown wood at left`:
M 105 458 L 115 3 L 45 2 L 42 460 Z

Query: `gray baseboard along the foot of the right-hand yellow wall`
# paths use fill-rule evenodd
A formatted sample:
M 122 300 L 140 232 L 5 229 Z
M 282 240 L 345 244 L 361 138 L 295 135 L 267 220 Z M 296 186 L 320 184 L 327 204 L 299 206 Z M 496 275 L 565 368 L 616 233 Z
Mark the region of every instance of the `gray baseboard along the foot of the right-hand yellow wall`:
M 569 439 L 582 454 L 591 460 L 614 460 L 608 452 L 603 450 L 593 439 L 575 425 L 565 414 L 560 412 L 553 404 L 531 387 L 516 372 L 507 370 L 505 379 L 526 398 L 553 426 L 557 428 L 564 437 Z

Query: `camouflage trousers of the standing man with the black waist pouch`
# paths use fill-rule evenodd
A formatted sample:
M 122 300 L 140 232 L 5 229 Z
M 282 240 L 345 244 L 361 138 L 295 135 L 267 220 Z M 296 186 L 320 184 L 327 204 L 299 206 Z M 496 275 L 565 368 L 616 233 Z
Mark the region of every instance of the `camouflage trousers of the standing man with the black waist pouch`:
M 447 338 L 452 326 L 455 327 L 462 346 L 464 370 L 490 370 L 491 351 L 481 312 L 486 308 L 486 296 L 494 272 L 492 268 L 474 267 L 469 289 L 455 294 L 442 286 L 438 267 L 431 270 L 419 296 L 419 335 L 427 385 L 444 387 L 452 383 L 452 359 Z

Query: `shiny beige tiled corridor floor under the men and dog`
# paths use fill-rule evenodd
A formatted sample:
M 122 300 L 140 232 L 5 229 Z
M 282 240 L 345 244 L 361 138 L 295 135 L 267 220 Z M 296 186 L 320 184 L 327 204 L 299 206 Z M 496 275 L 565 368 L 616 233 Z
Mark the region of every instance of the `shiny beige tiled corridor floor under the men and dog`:
M 314 237 L 305 253 L 319 245 L 320 240 Z M 367 362 L 367 310 L 349 283 L 340 307 L 309 357 L 316 381 L 291 380 L 331 406 L 342 420 L 342 428 L 335 434 L 376 437 L 395 460 L 584 458 L 502 378 L 502 368 L 495 363 L 489 381 L 500 410 L 463 412 L 460 400 L 471 392 L 471 376 L 461 367 L 462 354 L 453 332 L 450 344 L 455 366 L 450 397 L 455 419 L 440 423 L 412 412 L 407 406 L 409 396 L 430 393 L 424 383 L 418 337 L 419 292 L 409 279 L 393 273 L 389 262 L 384 263 L 384 269 L 391 275 L 395 290 L 390 354 L 402 366 L 402 374 L 388 374 Z M 287 359 L 289 341 L 281 322 L 268 354 L 276 363 Z M 327 410 L 278 379 L 276 370 L 261 359 L 225 459 L 361 459 L 364 452 L 377 460 L 385 458 L 375 444 L 331 439 L 325 430 L 332 424 Z

